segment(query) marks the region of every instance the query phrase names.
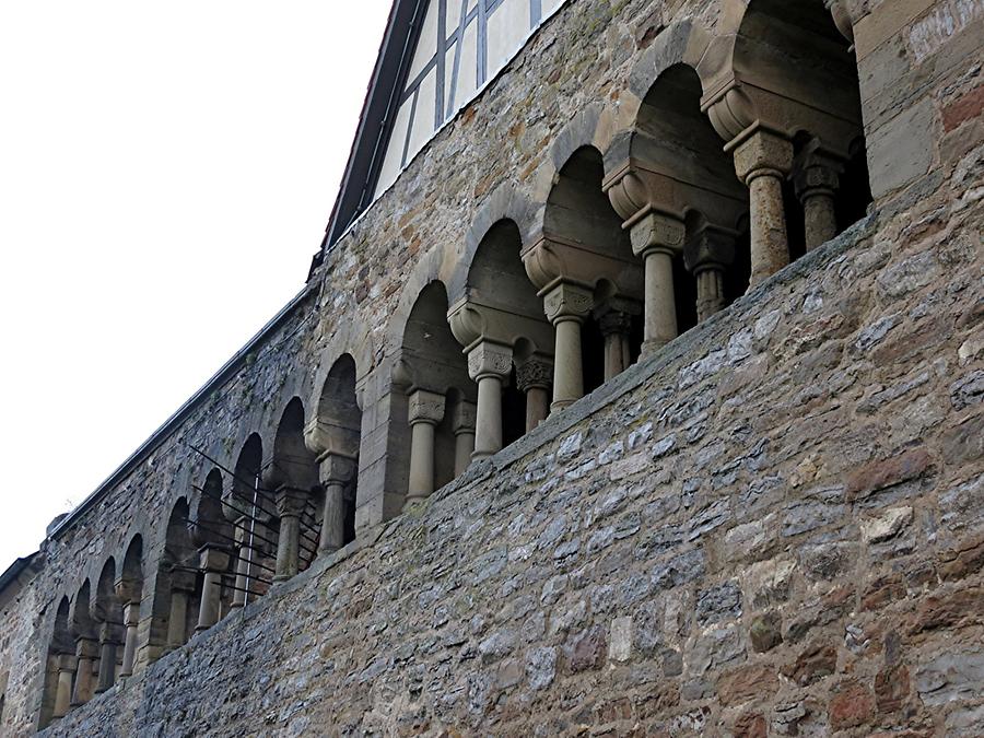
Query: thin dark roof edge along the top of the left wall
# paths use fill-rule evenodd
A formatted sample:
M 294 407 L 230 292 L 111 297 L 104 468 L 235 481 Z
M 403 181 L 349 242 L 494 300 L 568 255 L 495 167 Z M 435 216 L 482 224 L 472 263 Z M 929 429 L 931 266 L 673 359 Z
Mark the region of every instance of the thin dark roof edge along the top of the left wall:
M 65 518 L 48 534 L 48 538 L 55 539 L 63 535 L 71 528 L 77 520 L 79 520 L 82 515 L 99 499 L 108 492 L 112 488 L 114 488 L 119 481 L 121 481 L 127 475 L 129 475 L 133 468 L 142 462 L 150 454 L 161 445 L 164 438 L 171 435 L 178 425 L 180 425 L 187 417 L 190 414 L 191 410 L 202 400 L 204 397 L 210 395 L 214 389 L 224 385 L 229 378 L 232 376 L 234 371 L 238 368 L 238 365 L 245 360 L 246 355 L 249 354 L 253 349 L 262 343 L 268 336 L 280 326 L 283 320 L 291 315 L 294 309 L 305 301 L 311 294 L 315 292 L 315 286 L 313 283 L 307 283 L 304 285 L 304 289 L 301 290 L 294 297 L 277 313 L 260 330 L 250 338 L 246 344 L 236 351 L 233 354 L 232 359 L 225 362 L 222 367 L 212 375 L 212 377 L 202 385 L 202 387 L 195 393 L 188 400 L 185 401 L 181 407 L 179 407 L 174 414 L 171 415 L 161 426 L 151 433 L 150 437 L 144 441 L 140 446 L 130 454 L 127 459 L 116 468 L 113 473 L 110 473 L 103 482 L 87 496 L 83 500 L 79 505 L 77 505 Z

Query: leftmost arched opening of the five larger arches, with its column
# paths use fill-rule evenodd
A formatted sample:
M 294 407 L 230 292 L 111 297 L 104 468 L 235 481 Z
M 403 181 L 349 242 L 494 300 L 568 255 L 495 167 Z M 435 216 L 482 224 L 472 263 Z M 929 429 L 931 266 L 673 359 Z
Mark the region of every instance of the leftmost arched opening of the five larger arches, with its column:
M 394 368 L 394 385 L 407 413 L 403 422 L 394 423 L 389 447 L 409 450 L 395 459 L 400 470 L 398 484 L 407 491 L 408 501 L 425 499 L 455 478 L 457 443 L 449 400 L 476 399 L 447 312 L 444 284 L 434 281 L 421 290 L 403 328 Z

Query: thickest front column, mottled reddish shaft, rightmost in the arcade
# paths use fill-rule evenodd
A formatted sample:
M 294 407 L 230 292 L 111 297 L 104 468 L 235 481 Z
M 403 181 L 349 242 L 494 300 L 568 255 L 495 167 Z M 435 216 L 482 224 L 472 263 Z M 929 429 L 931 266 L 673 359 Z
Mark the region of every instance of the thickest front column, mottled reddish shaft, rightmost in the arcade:
M 751 288 L 789 263 L 783 180 L 793 169 L 793 144 L 759 129 L 734 151 L 735 172 L 749 189 Z

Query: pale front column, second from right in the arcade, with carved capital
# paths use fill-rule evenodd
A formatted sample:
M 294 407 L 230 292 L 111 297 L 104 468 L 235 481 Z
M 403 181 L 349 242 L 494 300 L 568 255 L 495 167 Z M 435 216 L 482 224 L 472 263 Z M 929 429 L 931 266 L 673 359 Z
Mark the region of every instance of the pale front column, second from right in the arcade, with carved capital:
M 677 338 L 673 258 L 683 249 L 686 227 L 673 215 L 652 211 L 632 224 L 632 250 L 646 260 L 643 353 Z

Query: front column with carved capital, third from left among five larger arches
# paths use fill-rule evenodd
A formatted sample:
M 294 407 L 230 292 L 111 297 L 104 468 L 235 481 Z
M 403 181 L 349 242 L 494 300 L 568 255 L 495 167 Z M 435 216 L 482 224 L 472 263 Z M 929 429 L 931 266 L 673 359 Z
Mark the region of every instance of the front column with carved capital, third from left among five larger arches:
M 563 410 L 584 396 L 581 324 L 590 313 L 593 303 L 588 290 L 570 282 L 561 282 L 543 297 L 543 309 L 555 333 L 551 410 Z

